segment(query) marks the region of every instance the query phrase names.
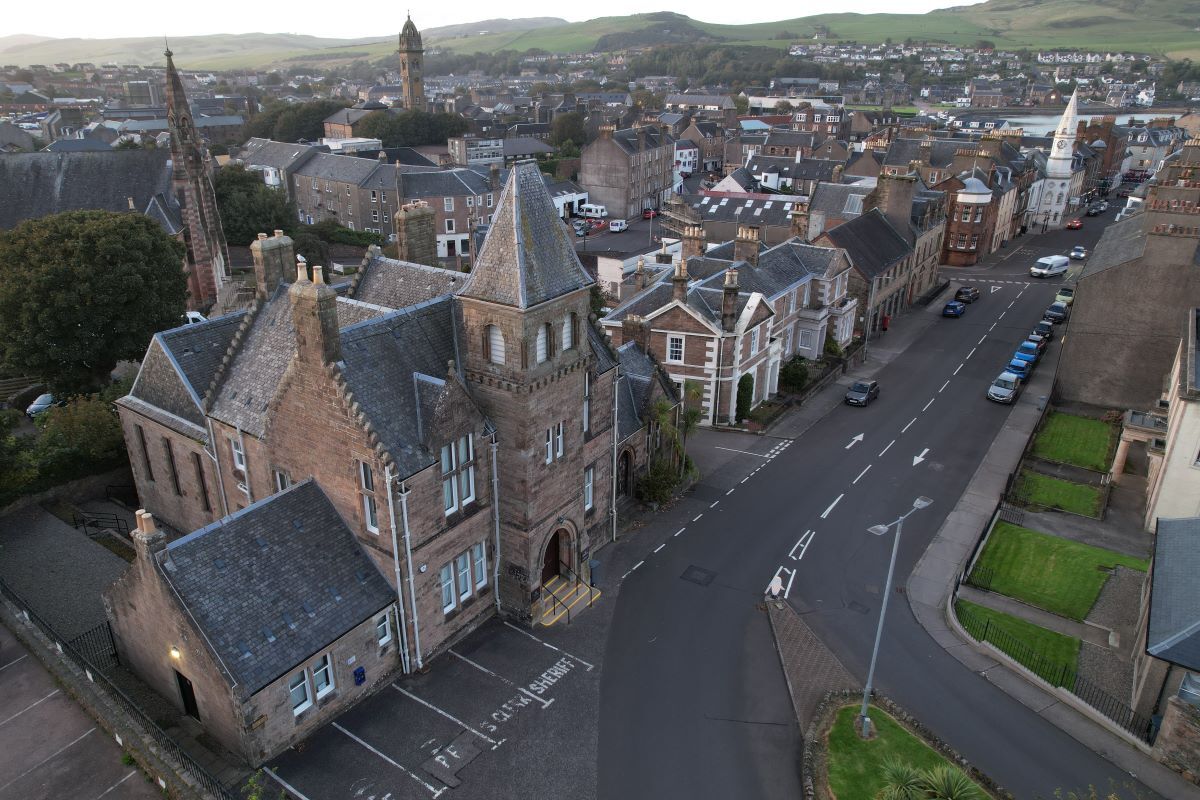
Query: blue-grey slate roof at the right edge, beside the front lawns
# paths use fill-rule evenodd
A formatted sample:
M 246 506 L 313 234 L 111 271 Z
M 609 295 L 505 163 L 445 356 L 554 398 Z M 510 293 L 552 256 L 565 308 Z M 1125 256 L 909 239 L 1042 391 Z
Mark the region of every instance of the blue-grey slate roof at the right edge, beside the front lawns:
M 1200 670 L 1200 517 L 1158 519 L 1146 652 Z

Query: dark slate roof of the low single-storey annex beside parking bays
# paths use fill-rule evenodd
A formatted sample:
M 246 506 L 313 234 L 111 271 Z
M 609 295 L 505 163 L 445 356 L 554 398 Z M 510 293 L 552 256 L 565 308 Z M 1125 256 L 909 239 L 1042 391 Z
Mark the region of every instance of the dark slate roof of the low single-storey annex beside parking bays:
M 395 601 L 311 479 L 172 542 L 155 558 L 250 694 Z

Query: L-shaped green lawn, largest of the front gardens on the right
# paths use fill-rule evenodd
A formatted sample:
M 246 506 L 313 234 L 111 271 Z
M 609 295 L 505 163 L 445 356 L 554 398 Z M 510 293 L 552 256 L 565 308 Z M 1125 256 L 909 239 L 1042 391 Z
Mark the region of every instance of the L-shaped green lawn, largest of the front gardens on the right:
M 1147 569 L 1142 559 L 997 522 L 972 577 L 992 591 L 1082 620 L 1109 578 L 1104 569 L 1117 565 Z

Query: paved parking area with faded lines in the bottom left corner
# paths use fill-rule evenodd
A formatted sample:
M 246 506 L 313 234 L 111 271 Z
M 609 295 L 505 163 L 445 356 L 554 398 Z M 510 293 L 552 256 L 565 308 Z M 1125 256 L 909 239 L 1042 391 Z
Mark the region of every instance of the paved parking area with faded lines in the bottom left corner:
M 161 800 L 162 792 L 0 626 L 0 800 Z

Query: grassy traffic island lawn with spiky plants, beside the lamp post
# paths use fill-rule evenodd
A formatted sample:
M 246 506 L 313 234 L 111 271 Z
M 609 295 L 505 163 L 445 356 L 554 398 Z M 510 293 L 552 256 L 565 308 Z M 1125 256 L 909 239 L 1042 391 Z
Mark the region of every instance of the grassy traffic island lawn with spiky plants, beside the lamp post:
M 918 769 L 949 764 L 874 705 L 870 715 L 877 735 L 864 741 L 854 732 L 858 709 L 858 705 L 847 705 L 838 711 L 838 718 L 829 729 L 829 788 L 838 800 L 874 800 L 883 788 L 880 770 L 889 758 L 907 762 Z

